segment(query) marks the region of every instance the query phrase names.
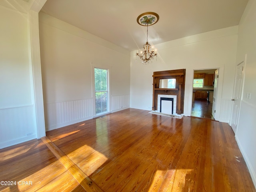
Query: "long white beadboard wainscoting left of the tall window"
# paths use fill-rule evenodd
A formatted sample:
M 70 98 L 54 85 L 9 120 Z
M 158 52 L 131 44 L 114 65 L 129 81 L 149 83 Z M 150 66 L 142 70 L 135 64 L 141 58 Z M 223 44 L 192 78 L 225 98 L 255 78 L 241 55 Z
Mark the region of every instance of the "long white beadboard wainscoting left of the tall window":
M 46 131 L 92 118 L 92 98 L 48 103 L 45 106 Z

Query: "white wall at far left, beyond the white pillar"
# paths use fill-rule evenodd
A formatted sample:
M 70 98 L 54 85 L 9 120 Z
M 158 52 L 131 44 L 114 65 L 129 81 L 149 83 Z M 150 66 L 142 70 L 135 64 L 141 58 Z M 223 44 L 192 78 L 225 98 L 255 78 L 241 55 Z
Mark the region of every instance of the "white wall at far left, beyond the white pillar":
M 30 16 L 8 6 L 0 5 L 0 148 L 37 137 Z

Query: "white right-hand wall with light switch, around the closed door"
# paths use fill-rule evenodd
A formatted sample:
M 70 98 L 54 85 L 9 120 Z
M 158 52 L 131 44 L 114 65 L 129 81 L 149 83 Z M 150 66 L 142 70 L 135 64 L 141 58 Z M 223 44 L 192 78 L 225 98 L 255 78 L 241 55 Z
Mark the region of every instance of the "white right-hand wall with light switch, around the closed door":
M 238 51 L 236 63 L 245 60 L 244 90 L 236 140 L 246 160 L 254 185 L 256 186 L 256 0 L 250 0 L 244 11 L 238 30 Z M 251 98 L 246 98 L 251 93 Z

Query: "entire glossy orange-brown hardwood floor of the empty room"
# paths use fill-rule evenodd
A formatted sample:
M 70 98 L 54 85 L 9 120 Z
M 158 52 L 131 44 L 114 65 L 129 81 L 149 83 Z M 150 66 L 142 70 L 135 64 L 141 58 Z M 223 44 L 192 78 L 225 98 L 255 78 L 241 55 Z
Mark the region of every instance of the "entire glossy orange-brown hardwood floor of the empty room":
M 1 191 L 256 192 L 226 123 L 126 109 L 0 150 Z

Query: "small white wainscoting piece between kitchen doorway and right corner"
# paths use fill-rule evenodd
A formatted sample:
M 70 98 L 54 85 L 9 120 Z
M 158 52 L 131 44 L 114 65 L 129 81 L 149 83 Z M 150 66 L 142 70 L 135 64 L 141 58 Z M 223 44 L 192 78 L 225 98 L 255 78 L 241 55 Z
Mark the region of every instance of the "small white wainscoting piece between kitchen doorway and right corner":
M 231 110 L 232 110 L 231 98 L 222 98 L 220 102 L 221 102 L 220 122 L 230 124 Z

